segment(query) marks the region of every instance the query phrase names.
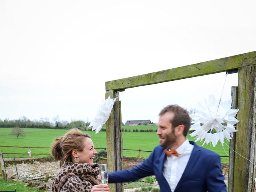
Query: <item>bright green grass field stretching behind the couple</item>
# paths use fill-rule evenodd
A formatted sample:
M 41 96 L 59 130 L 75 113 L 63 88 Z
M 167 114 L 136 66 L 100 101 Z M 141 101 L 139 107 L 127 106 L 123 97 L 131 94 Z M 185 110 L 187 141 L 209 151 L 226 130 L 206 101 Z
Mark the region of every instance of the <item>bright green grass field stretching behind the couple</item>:
M 124 129 L 157 129 L 157 126 L 123 126 Z M 56 129 L 38 129 L 38 128 L 23 128 L 26 136 L 20 136 L 18 139 L 16 136 L 10 135 L 12 128 L 0 128 L 0 151 L 3 153 L 27 153 L 27 148 L 7 148 L 1 146 L 30 146 L 32 147 L 32 157 L 42 157 L 49 155 L 33 155 L 33 154 L 49 154 L 50 149 L 38 149 L 33 147 L 51 147 L 54 138 L 64 135 L 68 130 L 56 130 Z M 106 147 L 106 132 L 99 132 L 95 134 L 93 131 L 84 131 L 90 134 L 95 148 Z M 122 132 L 123 136 L 123 149 L 136 149 L 152 151 L 156 145 L 159 144 L 158 136 L 156 132 Z M 189 140 L 194 140 L 190 136 L 187 136 Z M 226 142 L 228 144 L 228 142 Z M 202 146 L 200 143 L 197 143 Z M 224 149 L 220 144 L 215 148 L 210 145 L 204 145 L 203 147 L 215 151 L 221 156 L 227 156 L 224 149 L 228 153 L 228 146 L 224 146 Z M 100 149 L 98 149 L 100 151 Z M 142 157 L 149 156 L 149 152 L 141 152 Z M 136 157 L 138 151 L 123 150 L 124 156 Z M 27 155 L 18 154 L 3 154 L 4 158 L 13 157 L 28 157 Z M 222 158 L 222 162 L 228 162 L 228 158 Z

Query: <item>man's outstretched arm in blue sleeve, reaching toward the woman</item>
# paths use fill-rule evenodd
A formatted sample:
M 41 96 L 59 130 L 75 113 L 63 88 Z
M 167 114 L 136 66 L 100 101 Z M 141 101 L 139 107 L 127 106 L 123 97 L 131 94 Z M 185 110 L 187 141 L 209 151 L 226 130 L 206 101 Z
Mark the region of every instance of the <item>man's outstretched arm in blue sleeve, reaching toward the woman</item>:
M 138 164 L 134 168 L 109 173 L 108 182 L 120 183 L 136 181 L 140 178 L 153 175 L 153 156 L 154 152 L 152 152 L 144 162 Z

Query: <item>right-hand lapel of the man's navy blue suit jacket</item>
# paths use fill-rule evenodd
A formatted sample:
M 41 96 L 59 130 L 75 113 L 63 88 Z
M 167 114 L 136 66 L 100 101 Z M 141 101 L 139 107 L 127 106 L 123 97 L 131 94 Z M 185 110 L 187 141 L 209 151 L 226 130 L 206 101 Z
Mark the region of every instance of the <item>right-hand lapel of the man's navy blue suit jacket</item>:
M 186 179 L 186 177 L 188 176 L 188 174 L 190 173 L 191 169 L 194 167 L 194 164 L 196 163 L 197 159 L 200 156 L 200 151 L 201 151 L 200 148 L 194 142 L 190 142 L 190 144 L 194 145 L 194 148 L 191 152 L 190 158 L 188 160 L 188 164 L 174 191 L 178 190 L 178 188 L 182 185 L 183 181 Z

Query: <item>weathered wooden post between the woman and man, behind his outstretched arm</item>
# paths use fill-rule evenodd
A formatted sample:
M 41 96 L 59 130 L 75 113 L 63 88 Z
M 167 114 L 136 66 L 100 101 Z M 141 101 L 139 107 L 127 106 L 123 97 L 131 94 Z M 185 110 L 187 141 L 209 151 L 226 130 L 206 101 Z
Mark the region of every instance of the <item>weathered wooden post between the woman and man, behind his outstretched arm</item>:
M 115 98 L 115 91 L 106 91 L 105 98 Z M 107 157 L 109 172 L 122 170 L 122 120 L 121 120 L 121 102 L 116 100 L 113 110 L 106 122 L 106 137 L 107 137 Z M 112 192 L 122 192 L 121 183 L 109 184 Z

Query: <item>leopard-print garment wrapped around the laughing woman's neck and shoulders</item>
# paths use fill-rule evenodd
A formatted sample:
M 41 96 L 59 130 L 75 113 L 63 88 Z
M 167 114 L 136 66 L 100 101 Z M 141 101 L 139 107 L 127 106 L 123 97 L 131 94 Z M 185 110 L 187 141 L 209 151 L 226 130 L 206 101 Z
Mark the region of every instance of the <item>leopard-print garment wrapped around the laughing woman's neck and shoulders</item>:
M 65 162 L 54 178 L 52 192 L 90 192 L 92 186 L 99 184 L 100 169 L 97 163 L 91 167 L 88 163 Z

